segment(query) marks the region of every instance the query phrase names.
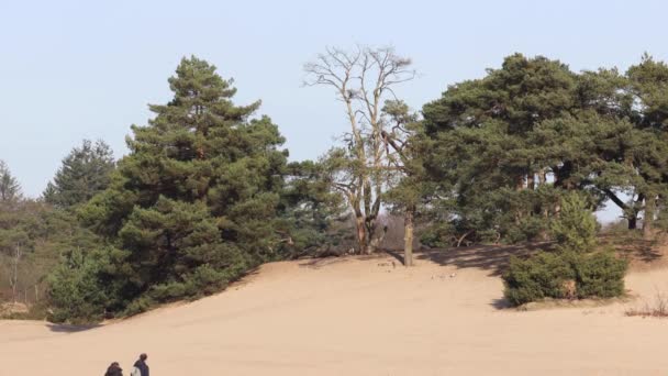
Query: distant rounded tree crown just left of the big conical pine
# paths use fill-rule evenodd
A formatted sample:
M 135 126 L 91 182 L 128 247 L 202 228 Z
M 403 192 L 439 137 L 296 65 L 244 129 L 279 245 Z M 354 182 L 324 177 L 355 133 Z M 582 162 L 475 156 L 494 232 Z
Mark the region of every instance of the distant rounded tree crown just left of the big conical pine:
M 115 168 L 113 153 L 103 141 L 94 144 L 84 140 L 63 159 L 53 183 L 42 197 L 51 204 L 70 208 L 85 203 L 109 186 L 111 173 Z

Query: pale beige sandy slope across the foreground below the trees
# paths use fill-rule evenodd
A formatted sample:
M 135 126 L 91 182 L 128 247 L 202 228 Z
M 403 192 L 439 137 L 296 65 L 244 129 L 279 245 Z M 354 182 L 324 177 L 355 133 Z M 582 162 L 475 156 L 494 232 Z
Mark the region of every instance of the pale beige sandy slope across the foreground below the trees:
M 499 309 L 502 256 L 275 263 L 219 296 L 88 331 L 0 321 L 0 375 L 102 375 L 140 352 L 154 376 L 666 373 L 668 320 L 624 317 L 639 301 Z M 668 269 L 627 287 L 668 291 Z

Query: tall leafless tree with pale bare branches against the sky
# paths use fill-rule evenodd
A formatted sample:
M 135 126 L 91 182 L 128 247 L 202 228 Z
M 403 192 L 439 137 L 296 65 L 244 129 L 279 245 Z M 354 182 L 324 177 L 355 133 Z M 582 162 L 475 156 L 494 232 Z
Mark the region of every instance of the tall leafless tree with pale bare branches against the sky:
M 326 48 L 304 65 L 305 86 L 329 86 L 346 110 L 350 132 L 344 147 L 325 158 L 333 186 L 347 199 L 355 215 L 359 253 L 372 253 L 381 236 L 375 236 L 382 193 L 391 174 L 381 113 L 386 99 L 396 98 L 393 88 L 415 77 L 411 60 L 392 47 L 357 46 L 353 52 Z M 382 235 L 382 234 L 381 234 Z

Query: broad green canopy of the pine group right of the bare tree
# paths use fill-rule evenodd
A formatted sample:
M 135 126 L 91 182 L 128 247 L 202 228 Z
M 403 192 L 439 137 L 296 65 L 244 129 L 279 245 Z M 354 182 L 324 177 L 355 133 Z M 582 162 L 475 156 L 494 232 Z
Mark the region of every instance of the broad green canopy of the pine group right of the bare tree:
M 496 231 L 515 243 L 544 237 L 558 198 L 578 191 L 590 210 L 616 204 L 632 229 L 642 215 L 652 234 L 666 223 L 666 98 L 668 66 L 648 55 L 625 74 L 509 56 L 424 106 L 431 206 L 465 223 L 455 236 Z

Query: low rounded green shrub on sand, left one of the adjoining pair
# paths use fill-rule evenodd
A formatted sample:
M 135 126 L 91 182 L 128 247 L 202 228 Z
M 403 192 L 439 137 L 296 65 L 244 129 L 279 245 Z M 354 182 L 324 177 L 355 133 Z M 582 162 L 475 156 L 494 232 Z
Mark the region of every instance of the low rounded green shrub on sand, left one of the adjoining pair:
M 545 298 L 565 298 L 568 280 L 575 279 L 575 270 L 561 254 L 539 252 L 527 259 L 511 257 L 503 275 L 504 296 L 513 306 Z

